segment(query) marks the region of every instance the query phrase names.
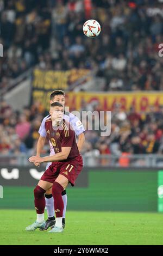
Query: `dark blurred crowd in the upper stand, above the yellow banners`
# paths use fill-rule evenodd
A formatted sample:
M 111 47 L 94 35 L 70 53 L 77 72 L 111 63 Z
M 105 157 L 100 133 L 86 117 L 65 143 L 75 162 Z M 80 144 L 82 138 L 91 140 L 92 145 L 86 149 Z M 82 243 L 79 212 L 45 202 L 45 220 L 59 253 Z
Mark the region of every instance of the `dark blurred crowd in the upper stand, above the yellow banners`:
M 161 0 L 0 0 L 1 88 L 30 66 L 68 70 L 86 68 L 104 77 L 104 90 L 162 90 L 159 57 Z M 82 32 L 96 19 L 102 32 Z

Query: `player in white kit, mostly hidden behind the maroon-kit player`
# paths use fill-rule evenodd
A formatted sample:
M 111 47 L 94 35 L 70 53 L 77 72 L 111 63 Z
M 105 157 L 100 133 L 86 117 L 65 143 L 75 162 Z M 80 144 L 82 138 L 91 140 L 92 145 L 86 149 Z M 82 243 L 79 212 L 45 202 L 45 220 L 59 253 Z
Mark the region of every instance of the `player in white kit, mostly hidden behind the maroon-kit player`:
M 50 96 L 50 103 L 52 104 L 53 102 L 60 102 L 63 106 L 65 105 L 65 93 L 62 90 L 54 90 L 51 93 Z M 41 154 L 41 150 L 45 144 L 45 139 L 46 139 L 46 129 L 45 129 L 45 121 L 47 120 L 47 118 L 49 118 L 50 115 L 47 115 L 45 118 L 43 118 L 40 129 L 39 129 L 39 133 L 40 133 L 40 137 L 37 141 L 37 150 L 36 150 L 36 155 L 40 156 Z M 76 117 L 76 115 L 70 113 L 70 112 L 64 112 L 64 119 L 67 120 L 70 125 L 73 127 L 74 132 L 76 133 L 76 135 L 78 136 L 78 149 L 79 152 L 82 149 L 83 143 L 85 141 L 85 136 L 84 136 L 84 126 L 82 124 L 82 122 L 79 120 L 78 117 Z M 49 141 L 49 145 L 51 148 L 51 152 L 50 155 L 54 155 L 54 149 L 53 146 L 51 144 L 51 142 Z M 39 166 L 39 163 L 34 163 L 35 166 Z M 51 163 L 47 163 L 46 169 L 51 165 Z M 66 214 L 66 206 L 67 206 L 67 194 L 66 194 L 66 190 L 64 190 L 62 192 L 62 199 L 64 201 L 64 212 L 63 212 L 63 218 L 62 218 L 62 227 L 65 227 L 65 214 Z M 46 225 L 45 228 L 40 228 L 40 230 L 47 230 L 49 227 L 52 227 L 55 224 L 55 217 L 54 217 L 54 199 L 52 196 L 52 190 L 48 190 L 45 193 L 45 200 L 46 200 L 46 209 L 47 209 L 47 215 L 48 215 L 48 219 L 46 220 Z

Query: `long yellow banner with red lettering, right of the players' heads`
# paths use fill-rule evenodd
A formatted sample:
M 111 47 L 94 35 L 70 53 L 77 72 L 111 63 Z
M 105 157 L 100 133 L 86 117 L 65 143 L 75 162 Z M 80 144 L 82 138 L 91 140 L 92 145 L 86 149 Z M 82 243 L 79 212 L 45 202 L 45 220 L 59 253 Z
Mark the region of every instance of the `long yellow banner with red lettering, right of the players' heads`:
M 117 92 L 117 93 L 68 93 L 66 106 L 72 110 L 81 109 L 84 104 L 99 102 L 103 111 L 111 111 L 120 104 L 124 111 L 135 107 L 136 111 L 149 111 L 151 106 L 163 105 L 163 92 Z

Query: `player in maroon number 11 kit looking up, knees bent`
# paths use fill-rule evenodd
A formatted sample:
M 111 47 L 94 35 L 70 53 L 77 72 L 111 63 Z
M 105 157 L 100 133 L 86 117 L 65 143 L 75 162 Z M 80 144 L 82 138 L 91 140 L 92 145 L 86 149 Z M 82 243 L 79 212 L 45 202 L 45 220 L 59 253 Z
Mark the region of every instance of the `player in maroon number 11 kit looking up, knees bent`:
M 32 156 L 30 162 L 52 162 L 51 166 L 42 175 L 38 185 L 34 189 L 34 202 L 37 212 L 37 220 L 29 225 L 26 230 L 34 231 L 36 228 L 45 226 L 45 192 L 52 187 L 54 197 L 54 209 L 56 222 L 49 232 L 62 232 L 62 214 L 64 203 L 61 193 L 68 183 L 74 186 L 77 176 L 83 168 L 83 159 L 79 153 L 76 136 L 70 124 L 63 119 L 64 107 L 59 102 L 51 104 L 49 113 L 51 117 L 46 120 L 45 127 L 47 138 L 51 141 L 55 155 Z

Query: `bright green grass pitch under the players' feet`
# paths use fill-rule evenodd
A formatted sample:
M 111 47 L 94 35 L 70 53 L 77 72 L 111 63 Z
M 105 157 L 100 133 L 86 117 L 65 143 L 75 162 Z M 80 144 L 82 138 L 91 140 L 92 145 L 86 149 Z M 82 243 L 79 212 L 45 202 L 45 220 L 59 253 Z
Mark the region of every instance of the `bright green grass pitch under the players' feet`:
M 34 210 L 1 210 L 0 245 L 163 245 L 163 215 L 67 211 L 63 233 L 25 231 Z

